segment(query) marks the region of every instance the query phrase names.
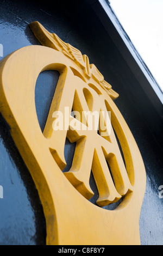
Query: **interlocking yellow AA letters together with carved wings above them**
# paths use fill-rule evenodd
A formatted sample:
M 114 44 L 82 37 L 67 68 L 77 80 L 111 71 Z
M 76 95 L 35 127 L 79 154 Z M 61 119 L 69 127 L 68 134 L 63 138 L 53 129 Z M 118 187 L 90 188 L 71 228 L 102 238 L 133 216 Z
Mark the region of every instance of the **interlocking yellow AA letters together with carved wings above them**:
M 51 46 L 53 44 L 53 48 L 70 59 L 68 65 L 61 67 L 61 76 L 43 132 L 45 137 L 51 138 L 53 142 L 51 153 L 62 169 L 66 164 L 64 160 L 66 137 L 70 142 L 76 142 L 72 167 L 64 173 L 65 176 L 85 198 L 90 199 L 93 196 L 89 185 L 92 169 L 99 193 L 97 204 L 105 206 L 116 202 L 133 190 L 114 130 L 108 122 L 110 109 L 108 94 L 113 99 L 118 94 L 104 81 L 96 66 L 89 64 L 87 56 L 82 56 L 79 50 L 63 42 L 56 34 L 48 33 L 40 23 L 33 22 L 30 27 L 39 40 L 45 42 L 45 39 L 48 39 Z M 44 44 L 49 44 L 49 41 Z M 73 68 L 72 63 L 76 63 L 76 68 Z M 64 111 L 65 108 L 67 111 Z M 71 109 L 76 114 L 76 120 L 71 120 Z M 57 114 L 61 115 L 58 119 Z M 67 117 L 69 120 L 66 123 Z M 132 174 L 129 172 L 129 175 Z

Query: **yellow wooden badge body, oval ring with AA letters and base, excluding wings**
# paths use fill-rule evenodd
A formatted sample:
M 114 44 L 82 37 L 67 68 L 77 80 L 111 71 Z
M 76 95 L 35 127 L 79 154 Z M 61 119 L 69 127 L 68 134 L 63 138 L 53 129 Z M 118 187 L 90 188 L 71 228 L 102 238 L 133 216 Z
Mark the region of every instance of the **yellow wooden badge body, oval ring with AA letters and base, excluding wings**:
M 88 58 L 83 59 L 87 71 L 58 49 L 45 46 L 27 46 L 10 54 L 0 65 L 0 111 L 39 191 L 47 245 L 139 245 L 145 167 L 126 121 L 106 88 L 92 75 L 93 66 L 88 65 Z M 48 69 L 58 70 L 60 78 L 42 134 L 35 108 L 35 84 L 40 72 Z M 105 137 L 97 135 L 97 131 L 67 132 L 68 127 L 53 130 L 53 112 L 64 113 L 65 106 L 79 112 L 111 111 L 111 123 L 121 143 L 126 169 L 113 130 Z M 80 122 L 78 118 L 76 121 Z M 64 175 L 61 169 L 66 164 L 66 136 L 71 142 L 76 141 L 77 147 L 72 168 Z M 91 168 L 99 191 L 99 206 L 123 197 L 114 211 L 87 200 L 92 196 Z

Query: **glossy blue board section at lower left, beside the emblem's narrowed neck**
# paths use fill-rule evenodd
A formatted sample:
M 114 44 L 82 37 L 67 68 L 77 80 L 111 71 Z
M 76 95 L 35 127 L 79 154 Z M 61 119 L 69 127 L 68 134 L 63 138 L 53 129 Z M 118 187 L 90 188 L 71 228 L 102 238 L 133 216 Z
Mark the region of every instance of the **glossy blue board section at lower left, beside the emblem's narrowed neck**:
M 44 245 L 46 224 L 33 179 L 0 115 L 0 245 Z

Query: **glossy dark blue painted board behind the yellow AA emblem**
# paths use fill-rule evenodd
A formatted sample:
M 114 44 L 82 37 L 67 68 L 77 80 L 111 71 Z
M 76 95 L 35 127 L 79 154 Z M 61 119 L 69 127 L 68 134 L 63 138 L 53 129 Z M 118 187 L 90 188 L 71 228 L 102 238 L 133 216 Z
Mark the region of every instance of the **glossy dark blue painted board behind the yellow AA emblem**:
M 140 215 L 141 244 L 163 245 L 163 199 L 158 196 L 158 188 L 163 185 L 160 113 L 156 112 L 140 80 L 136 79 L 137 70 L 135 74 L 131 71 L 121 47 L 117 48 L 102 25 L 100 12 L 97 16 L 97 8 L 79 0 L 53 1 L 53 5 L 49 1 L 0 2 L 0 44 L 3 44 L 4 57 L 24 46 L 40 45 L 28 27 L 30 22 L 39 21 L 49 32 L 56 33 L 86 54 L 90 63 L 97 66 L 105 80 L 120 94 L 115 103 L 134 135 L 147 172 Z M 97 6 L 97 1 L 90 2 Z M 37 79 L 35 102 L 42 130 L 57 80 L 57 71 L 42 72 Z M 4 198 L 0 199 L 0 245 L 44 245 L 46 223 L 42 205 L 9 130 L 0 116 L 0 185 L 4 190 Z M 69 167 L 74 147 L 66 141 L 65 158 Z

